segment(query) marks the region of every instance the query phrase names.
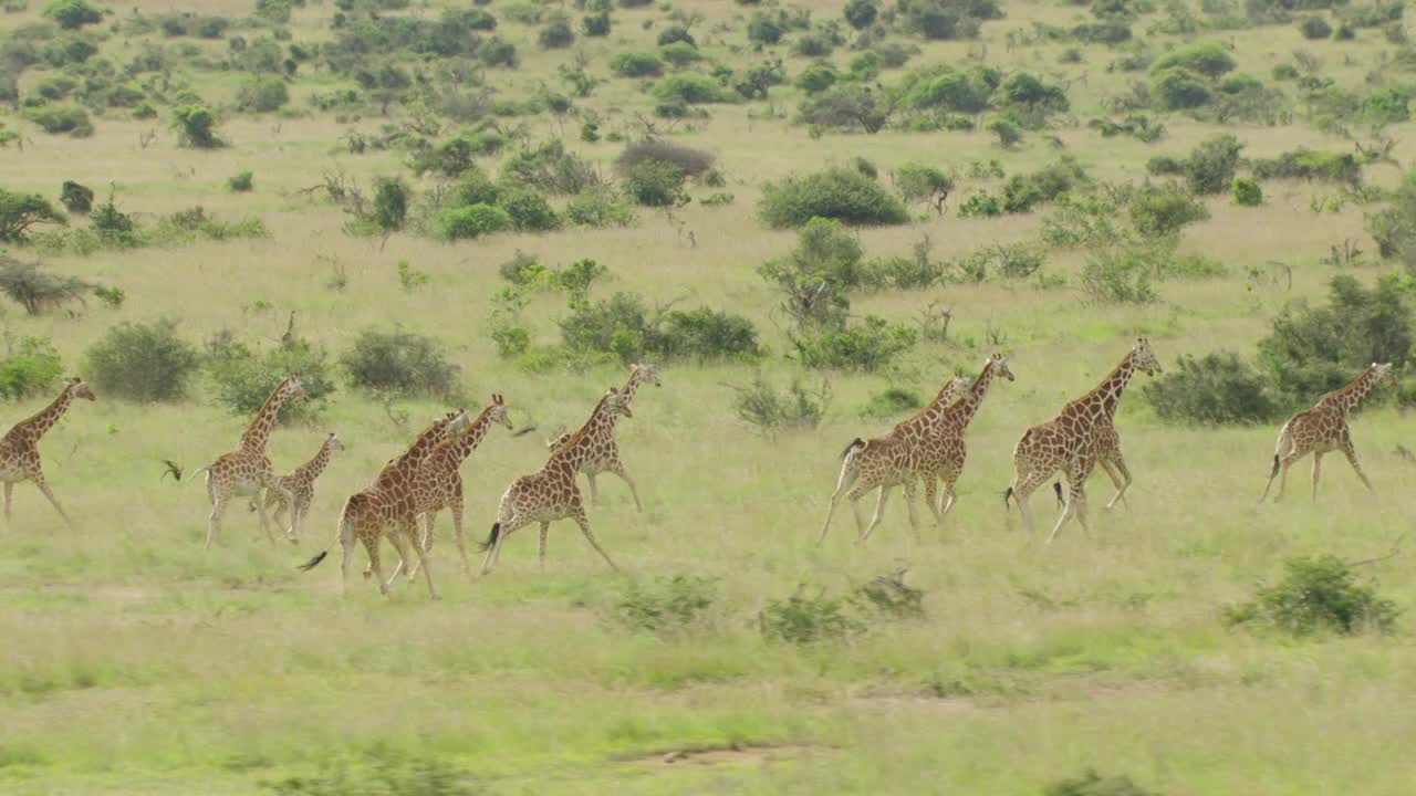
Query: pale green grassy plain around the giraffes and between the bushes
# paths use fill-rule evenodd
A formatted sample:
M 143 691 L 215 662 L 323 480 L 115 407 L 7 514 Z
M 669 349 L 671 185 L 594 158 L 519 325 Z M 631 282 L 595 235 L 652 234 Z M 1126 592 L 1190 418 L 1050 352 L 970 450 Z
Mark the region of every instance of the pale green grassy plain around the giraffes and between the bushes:
M 0 17 L 0 28 L 31 21 L 38 6 Z M 109 6 L 120 18 L 169 4 Z M 204 3 L 202 10 L 241 16 L 248 6 Z M 840 7 L 799 6 L 818 16 Z M 678 0 L 674 7 L 701 13 L 705 30 L 733 25 L 705 37 L 711 52 L 726 58 L 722 41 L 743 40 L 736 6 Z M 988 61 L 1073 78 L 1075 115 L 1099 115 L 1102 98 L 1127 79 L 1103 71 L 1104 51 L 1065 65 L 1058 62 L 1062 45 L 1008 51 L 1004 44 L 1010 30 L 1028 30 L 1034 20 L 1065 24 L 1079 10 L 1020 1 L 1005 8 L 1005 20 L 983 30 Z M 327 35 L 330 13 L 324 3 L 297 10 L 296 38 Z M 637 24 L 641 17 L 663 14 L 617 11 L 609 40 L 581 41 L 576 50 L 589 55 L 592 71 L 606 75 L 610 54 L 651 40 L 654 33 Z M 507 93 L 554 79 L 555 65 L 573 52 L 538 51 L 535 28 L 510 20 L 500 33 L 521 45 L 524 59 L 521 69 L 497 78 Z M 1291 25 L 1222 38 L 1233 40 L 1243 67 L 1260 75 L 1294 48 L 1318 47 L 1328 74 L 1347 84 L 1359 82 L 1385 47 L 1371 30 L 1357 41 L 1310 45 Z M 130 45 L 113 37 L 105 47 Z M 912 65 L 961 61 L 977 47 L 932 44 Z M 847 57 L 843 50 L 834 59 Z M 787 57 L 789 71 L 804 64 Z M 194 72 L 191 79 L 208 99 L 232 96 L 228 75 Z M 319 74 L 297 81 L 292 106 L 304 109 L 309 86 L 327 82 Z M 790 86 L 773 91 L 783 109 L 796 98 Z M 602 109 L 607 127 L 626 130 L 633 110 L 649 106 L 637 84 L 622 79 L 582 102 Z M 127 302 L 78 316 L 28 317 L 11 307 L 0 323 L 7 336 L 52 337 L 67 363 L 79 363 L 120 320 L 176 317 L 194 341 L 222 329 L 273 340 L 296 310 L 300 331 L 331 351 L 347 348 L 364 327 L 402 324 L 445 343 L 463 368 L 469 402 L 503 392 L 518 425 L 548 432 L 579 423 L 623 373 L 525 374 L 497 358 L 486 334 L 489 297 L 500 286 L 497 265 L 517 249 L 547 263 L 596 259 L 613 275 L 598 288 L 606 295 L 633 289 L 743 313 L 780 354 L 786 340 L 772 320 L 775 300 L 753 268 L 786 252 L 794 237 L 765 231 L 753 218 L 762 181 L 855 156 L 882 169 L 998 157 L 1010 173 L 1056 156 L 1039 136 L 1015 153 L 984 133 L 814 140 L 786 119 L 753 118 L 760 112 L 760 103 L 715 106 L 711 120 L 681 136 L 718 156 L 736 197 L 731 207 L 677 212 L 697 246 L 651 211 L 629 229 L 508 234 L 457 245 L 412 235 L 382 246 L 351 238 L 336 208 L 297 191 L 336 167 L 364 181 L 404 169 L 396 153 L 341 152 L 346 126 L 329 115 L 231 115 L 222 133 L 232 146 L 210 153 L 177 149 L 161 122 L 116 112 L 98 120 L 91 139 L 45 136 L 6 118 L 25 135 L 23 150 L 0 150 L 10 190 L 51 195 L 62 178 L 115 183 L 125 210 L 163 214 L 201 204 L 222 217 L 258 214 L 270 237 L 52 258 L 57 269 L 122 286 Z M 537 135 L 559 133 L 552 120 L 530 123 Z M 1216 132 L 1180 116 L 1165 123 L 1170 135 L 1157 144 L 1102 139 L 1085 125 L 1056 135 L 1096 176 L 1140 180 L 1148 157 L 1185 153 Z M 150 129 L 159 137 L 142 147 L 139 136 Z M 1250 156 L 1348 146 L 1303 125 L 1232 132 Z M 1410 126 L 1395 133 L 1406 136 L 1396 156 L 1416 154 Z M 565 137 L 606 171 L 620 149 L 575 142 L 573 130 Z M 255 171 L 256 190 L 227 193 L 225 178 L 242 169 Z M 1368 169 L 1378 184 L 1396 176 Z M 204 465 L 232 446 L 245 419 L 200 391 L 174 405 L 101 395 L 76 406 L 42 449 L 50 480 L 82 518 L 81 530 L 67 530 L 33 487 L 21 486 L 14 523 L 0 534 L 0 790 L 255 793 L 262 782 L 312 776 L 329 763 L 362 772 L 389 756 L 429 756 L 490 793 L 1024 795 L 1086 768 L 1168 795 L 1409 793 L 1416 782 L 1408 749 L 1416 732 L 1409 619 L 1389 637 L 1310 642 L 1228 630 L 1219 619 L 1225 605 L 1252 595 L 1291 555 L 1368 558 L 1409 527 L 1416 470 L 1393 452 L 1409 438 L 1409 419 L 1383 409 L 1357 421 L 1376 499 L 1330 459 L 1317 506 L 1307 500 L 1304 466 L 1286 503 L 1260 507 L 1274 428 L 1163 425 L 1133 390 L 1119 415 L 1137 476 L 1129 511 L 1100 510 L 1112 489 L 1096 479 L 1093 533 L 1072 525 L 1044 548 L 1003 510 L 1021 429 L 1089 390 L 1137 334 L 1148 334 L 1167 364 L 1180 354 L 1252 351 L 1286 302 L 1324 293 L 1334 273 L 1320 263 L 1327 246 L 1355 238 L 1375 249 L 1362 234 L 1361 207 L 1317 215 L 1308 204 L 1325 191 L 1321 186 L 1270 183 L 1266 190 L 1259 208 L 1212 200 L 1212 220 L 1185 232 L 1184 248 L 1219 258 L 1229 276 L 1165 283 L 1157 305 L 1096 306 L 1075 289 L 993 283 L 858 299 L 857 312 L 893 319 L 939 300 L 953 307 L 957 343 L 922 344 L 892 378 L 831 377 L 831 411 L 810 433 L 765 439 L 733 415 L 725 384 L 749 381 L 749 367 L 664 368 L 664 387 L 646 388 L 634 418 L 620 425 L 646 511 L 636 514 L 623 484 L 602 477 L 605 503 L 592 523 L 629 579 L 718 578 L 716 622 L 683 636 L 632 633 L 610 622 L 626 578 L 609 574 L 568 524 L 552 531 L 545 574 L 535 567 L 532 534 L 524 534 L 508 541 L 491 576 L 470 582 L 450 555 L 445 518 L 433 558 L 445 596 L 438 603 L 416 584 L 384 601 L 358 579 L 341 602 L 336 565 L 297 572 L 295 564 L 329 540 L 344 497 L 413 431 L 358 392 L 341 390 L 317 426 L 282 428 L 272 439 L 278 469 L 312 455 L 326 428 L 348 446 L 320 483 L 309 537 L 272 548 L 253 517 L 239 511 L 210 552 L 201 548 L 208 510 L 201 486 L 159 480 L 159 459 Z M 861 239 L 871 255 L 905 254 L 927 234 L 939 256 L 953 256 L 1027 239 L 1038 225 L 1038 215 L 929 214 L 910 227 L 865 229 Z M 1080 252 L 1054 254 L 1045 268 L 1075 280 L 1082 259 Z M 399 289 L 398 261 L 426 272 L 430 285 Z M 1267 273 L 1269 261 L 1293 266 L 1291 290 L 1246 279 L 1249 266 Z M 327 285 L 334 262 L 347 269 L 344 290 Z M 1357 273 L 1371 279 L 1376 272 Z M 545 341 L 554 340 L 562 312 L 549 297 L 531 307 Z M 947 525 L 926 525 L 923 540 L 912 540 L 896 496 L 871 544 L 851 544 L 852 523 L 843 513 L 827 544 L 813 547 L 838 452 L 893 422 L 862 421 L 857 408 L 888 384 L 932 394 L 956 365 L 974 371 L 990 350 L 983 344 L 990 329 L 1005 334 L 1018 380 L 995 385 L 970 429 L 960 503 Z M 780 356 L 763 368 L 777 382 L 794 373 Z M 20 418 L 41 404 L 8 405 L 6 415 Z M 415 423 L 445 409 L 402 408 Z M 494 429 L 464 466 L 474 537 L 486 533 L 504 486 L 544 462 L 541 436 Z M 1051 523 L 1049 500 L 1034 500 L 1042 524 Z M 844 593 L 899 567 L 926 593 L 925 620 L 881 623 L 850 642 L 807 647 L 767 642 L 758 630 L 758 612 L 800 584 Z M 1409 559 L 1398 557 L 1364 575 L 1409 610 L 1416 605 L 1409 571 Z M 728 748 L 736 751 L 660 759 Z

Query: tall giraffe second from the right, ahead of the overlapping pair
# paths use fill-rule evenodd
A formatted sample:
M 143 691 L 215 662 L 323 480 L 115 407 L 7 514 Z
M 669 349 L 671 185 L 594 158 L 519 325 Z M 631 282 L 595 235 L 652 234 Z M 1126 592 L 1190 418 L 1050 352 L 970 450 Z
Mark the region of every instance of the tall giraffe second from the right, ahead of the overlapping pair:
M 1086 479 L 1103 457 L 1117 467 L 1119 474 L 1124 474 L 1124 482 L 1117 480 L 1117 494 L 1112 499 L 1112 504 L 1121 499 L 1131 479 L 1130 470 L 1126 469 L 1126 462 L 1121 459 L 1120 436 L 1116 433 L 1113 418 L 1121 392 L 1136 371 L 1147 375 L 1161 373 L 1160 360 L 1151 351 L 1150 340 L 1144 337 L 1136 340 L 1136 346 L 1121 357 L 1120 364 L 1102 380 L 1096 390 L 1070 401 L 1062 406 L 1055 418 L 1029 428 L 1018 438 L 1018 443 L 1012 449 L 1014 479 L 1003 500 L 1007 506 L 1008 499 L 1018 499 L 1018 508 L 1022 511 L 1022 521 L 1029 534 L 1032 533 L 1032 513 L 1028 508 L 1028 496 L 1058 470 L 1062 470 L 1066 477 L 1069 491 L 1066 508 L 1058 517 L 1052 534 L 1048 535 L 1048 544 L 1052 544 L 1058 531 L 1073 514 L 1082 523 L 1083 530 L 1089 528 L 1086 521 Z M 1103 467 L 1110 472 L 1106 465 Z

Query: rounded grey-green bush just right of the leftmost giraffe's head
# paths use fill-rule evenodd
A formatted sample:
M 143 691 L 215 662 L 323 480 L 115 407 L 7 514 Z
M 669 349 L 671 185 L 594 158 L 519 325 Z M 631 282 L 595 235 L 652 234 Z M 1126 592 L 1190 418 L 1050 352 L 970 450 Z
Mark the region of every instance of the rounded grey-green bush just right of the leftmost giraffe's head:
M 177 336 L 177 323 L 120 323 L 89 346 L 84 373 L 105 395 L 129 401 L 177 401 L 201 364 Z

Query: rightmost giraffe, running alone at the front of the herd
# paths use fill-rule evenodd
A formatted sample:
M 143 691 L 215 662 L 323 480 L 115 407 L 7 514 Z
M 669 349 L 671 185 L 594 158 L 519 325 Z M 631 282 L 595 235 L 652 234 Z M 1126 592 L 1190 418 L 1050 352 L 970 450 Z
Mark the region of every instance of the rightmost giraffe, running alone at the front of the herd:
M 1362 402 L 1366 395 L 1383 381 L 1396 381 L 1396 373 L 1391 363 L 1372 363 L 1362 375 L 1352 380 L 1341 390 L 1334 390 L 1323 397 L 1311 409 L 1304 409 L 1289 418 L 1279 429 L 1279 443 L 1273 450 L 1273 470 L 1269 473 L 1269 483 L 1263 487 L 1263 497 L 1269 499 L 1269 489 L 1273 479 L 1283 473 L 1279 480 L 1279 496 L 1289 482 L 1289 469 L 1301 457 L 1313 453 L 1313 500 L 1318 499 L 1318 473 L 1323 467 L 1323 455 L 1341 450 L 1357 477 L 1362 479 L 1366 491 L 1372 490 L 1372 482 L 1366 480 L 1362 465 L 1357 460 L 1357 448 L 1352 446 L 1352 429 L 1348 426 L 1347 415 L 1354 406 Z

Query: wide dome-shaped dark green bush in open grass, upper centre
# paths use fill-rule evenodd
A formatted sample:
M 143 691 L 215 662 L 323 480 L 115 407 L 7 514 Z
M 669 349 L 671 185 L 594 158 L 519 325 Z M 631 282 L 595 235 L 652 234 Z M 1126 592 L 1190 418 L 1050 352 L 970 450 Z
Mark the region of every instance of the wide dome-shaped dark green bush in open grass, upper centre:
M 763 184 L 758 218 L 772 229 L 786 229 L 813 218 L 862 227 L 905 224 L 909 214 L 875 180 L 854 169 L 833 167 Z

